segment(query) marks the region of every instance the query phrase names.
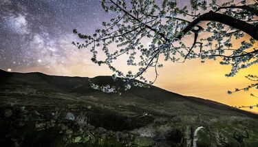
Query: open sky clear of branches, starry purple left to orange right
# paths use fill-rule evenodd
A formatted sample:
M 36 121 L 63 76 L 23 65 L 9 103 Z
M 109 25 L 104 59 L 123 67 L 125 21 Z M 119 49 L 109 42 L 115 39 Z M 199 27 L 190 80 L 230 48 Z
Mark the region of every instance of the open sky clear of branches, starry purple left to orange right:
M 111 75 L 107 67 L 91 62 L 87 49 L 72 45 L 78 39 L 72 30 L 93 34 L 102 21 L 109 21 L 112 16 L 96 0 L 0 0 L 0 69 L 61 76 Z M 230 106 L 257 104 L 257 98 L 250 97 L 250 93 L 227 95 L 226 91 L 250 84 L 244 76 L 257 74 L 258 66 L 226 78 L 229 71 L 230 67 L 221 66 L 218 61 L 165 63 L 155 85 Z

